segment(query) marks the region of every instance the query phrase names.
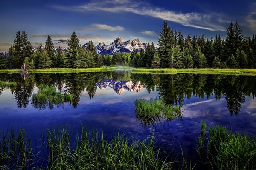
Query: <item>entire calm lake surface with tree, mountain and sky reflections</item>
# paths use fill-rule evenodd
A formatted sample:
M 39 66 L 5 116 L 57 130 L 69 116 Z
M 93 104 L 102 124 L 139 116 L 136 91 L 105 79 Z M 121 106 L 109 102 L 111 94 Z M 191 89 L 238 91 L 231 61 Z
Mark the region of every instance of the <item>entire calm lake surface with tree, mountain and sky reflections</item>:
M 0 74 L 0 80 L 17 82 L 16 88 L 0 89 L 0 129 L 23 127 L 40 140 L 46 128 L 69 126 L 74 136 L 82 125 L 103 131 L 108 139 L 118 131 L 143 140 L 156 136 L 163 155 L 180 145 L 188 156 L 196 154 L 200 122 L 227 125 L 234 132 L 256 133 L 256 77 L 211 74 L 131 74 L 127 71 L 74 74 Z M 38 86 L 54 85 L 72 94 L 73 102 L 35 107 L 31 95 Z M 183 105 L 182 119 L 148 124 L 134 113 L 134 99 L 163 98 Z

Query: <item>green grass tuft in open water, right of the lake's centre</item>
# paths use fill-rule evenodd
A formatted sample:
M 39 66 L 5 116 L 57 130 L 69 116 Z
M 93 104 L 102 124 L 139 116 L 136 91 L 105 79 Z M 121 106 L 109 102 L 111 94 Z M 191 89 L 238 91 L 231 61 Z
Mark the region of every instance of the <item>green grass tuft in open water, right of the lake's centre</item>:
M 154 124 L 160 118 L 173 120 L 175 117 L 181 116 L 181 106 L 168 105 L 163 99 L 153 100 L 151 98 L 147 101 L 141 98 L 134 102 L 137 119 L 144 125 Z

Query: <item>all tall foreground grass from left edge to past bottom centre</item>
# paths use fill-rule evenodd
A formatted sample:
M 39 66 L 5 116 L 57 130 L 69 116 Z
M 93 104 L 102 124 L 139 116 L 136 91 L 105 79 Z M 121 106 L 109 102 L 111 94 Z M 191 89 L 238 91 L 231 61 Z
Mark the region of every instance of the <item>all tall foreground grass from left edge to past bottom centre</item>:
M 55 170 L 169 170 L 172 162 L 160 159 L 160 151 L 154 149 L 154 138 L 142 142 L 117 135 L 107 141 L 103 134 L 82 129 L 75 144 L 71 144 L 67 129 L 48 130 L 46 164 L 30 147 L 31 139 L 25 130 L 18 134 L 13 130 L 1 133 L 0 169 L 25 170 L 38 168 Z M 37 163 L 37 164 L 36 164 Z

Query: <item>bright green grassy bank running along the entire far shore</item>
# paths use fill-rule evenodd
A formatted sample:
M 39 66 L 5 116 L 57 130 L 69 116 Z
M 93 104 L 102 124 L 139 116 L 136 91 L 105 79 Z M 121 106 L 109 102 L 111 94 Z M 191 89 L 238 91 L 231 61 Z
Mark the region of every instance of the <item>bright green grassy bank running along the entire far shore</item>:
M 133 68 L 133 67 L 104 67 L 104 68 L 49 68 L 49 69 L 32 69 L 30 73 L 86 73 L 86 72 L 104 72 L 115 70 L 131 70 L 132 73 L 150 73 L 150 74 L 177 74 L 177 73 L 194 73 L 194 74 L 231 74 L 231 75 L 245 75 L 256 76 L 256 69 L 174 69 L 174 68 Z M 5 69 L 0 70 L 0 73 L 19 73 L 19 69 Z

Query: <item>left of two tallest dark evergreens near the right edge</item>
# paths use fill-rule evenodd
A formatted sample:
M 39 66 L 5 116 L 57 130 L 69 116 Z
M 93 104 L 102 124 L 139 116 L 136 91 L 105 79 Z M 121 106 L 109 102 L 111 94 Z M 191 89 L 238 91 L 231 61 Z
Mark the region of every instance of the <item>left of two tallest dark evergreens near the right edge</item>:
M 227 37 L 225 38 L 225 56 L 224 60 L 227 57 L 231 56 L 231 54 L 235 54 L 235 33 L 234 33 L 234 25 L 231 22 L 230 26 L 227 28 Z

